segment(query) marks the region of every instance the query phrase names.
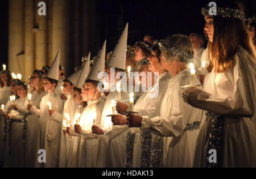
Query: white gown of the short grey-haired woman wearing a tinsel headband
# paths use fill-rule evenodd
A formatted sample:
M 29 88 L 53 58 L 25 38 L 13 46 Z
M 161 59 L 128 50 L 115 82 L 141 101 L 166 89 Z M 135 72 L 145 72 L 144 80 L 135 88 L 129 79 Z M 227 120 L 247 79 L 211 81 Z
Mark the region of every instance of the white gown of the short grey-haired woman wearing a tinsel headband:
M 143 116 L 142 119 L 142 130 L 150 129 L 165 137 L 163 167 L 192 167 L 199 127 L 191 129 L 191 126 L 192 123 L 200 122 L 202 110 L 183 101 L 180 87 L 190 84 L 190 79 L 189 69 L 180 71 L 170 79 L 160 107 L 160 116 Z

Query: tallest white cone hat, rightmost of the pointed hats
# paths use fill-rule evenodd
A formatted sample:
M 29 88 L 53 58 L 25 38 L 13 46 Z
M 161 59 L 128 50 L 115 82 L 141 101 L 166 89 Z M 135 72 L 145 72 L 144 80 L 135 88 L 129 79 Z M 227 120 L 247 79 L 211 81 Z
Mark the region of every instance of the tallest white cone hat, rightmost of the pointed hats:
M 112 56 L 110 57 L 107 66 L 125 70 L 127 36 L 128 36 L 128 23 L 126 24 L 125 29 L 123 30 L 123 33 L 117 42 L 117 45 L 115 45 Z

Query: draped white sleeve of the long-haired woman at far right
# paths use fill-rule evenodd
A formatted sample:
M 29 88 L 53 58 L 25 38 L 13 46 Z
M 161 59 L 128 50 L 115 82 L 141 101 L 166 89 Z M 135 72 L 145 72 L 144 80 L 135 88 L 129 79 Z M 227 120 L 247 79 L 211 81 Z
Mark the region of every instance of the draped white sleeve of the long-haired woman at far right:
M 234 92 L 230 96 L 221 98 L 211 95 L 203 90 L 189 88 L 189 104 L 209 112 L 216 112 L 230 116 L 254 116 L 256 95 L 255 63 L 252 62 L 249 64 L 246 62 L 246 59 L 244 61 L 240 60 L 234 66 L 233 74 Z M 225 91 L 225 83 L 222 84 L 223 86 L 218 85 L 218 90 Z

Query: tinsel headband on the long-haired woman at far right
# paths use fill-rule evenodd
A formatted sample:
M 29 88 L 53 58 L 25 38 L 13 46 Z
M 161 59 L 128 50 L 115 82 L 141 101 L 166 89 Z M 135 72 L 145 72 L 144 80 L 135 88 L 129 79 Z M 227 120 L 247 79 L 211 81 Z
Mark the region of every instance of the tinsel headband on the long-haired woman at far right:
M 218 7 L 217 11 L 213 10 L 212 12 L 217 12 L 217 16 L 221 16 L 223 18 L 236 18 L 243 22 L 246 21 L 245 14 L 238 9 Z M 209 9 L 207 10 L 206 8 L 202 8 L 201 13 L 203 15 L 209 15 Z

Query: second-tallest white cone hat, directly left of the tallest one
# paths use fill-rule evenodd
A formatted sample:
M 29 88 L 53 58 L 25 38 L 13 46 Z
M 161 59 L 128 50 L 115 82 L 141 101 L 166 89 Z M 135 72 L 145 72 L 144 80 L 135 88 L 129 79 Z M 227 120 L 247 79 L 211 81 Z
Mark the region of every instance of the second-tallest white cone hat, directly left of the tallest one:
M 86 80 L 95 80 L 101 81 L 102 79 L 98 79 L 98 73 L 105 71 L 105 56 L 106 56 L 106 40 L 97 55 L 96 62 L 94 62 L 94 66 L 90 71 L 90 74 L 86 78 Z

